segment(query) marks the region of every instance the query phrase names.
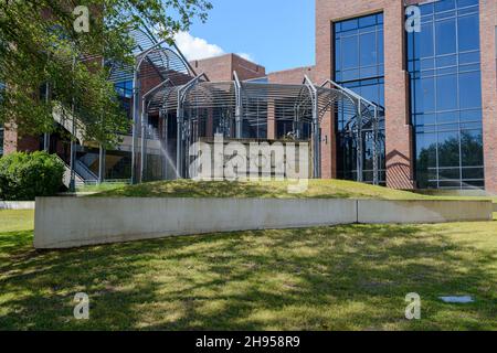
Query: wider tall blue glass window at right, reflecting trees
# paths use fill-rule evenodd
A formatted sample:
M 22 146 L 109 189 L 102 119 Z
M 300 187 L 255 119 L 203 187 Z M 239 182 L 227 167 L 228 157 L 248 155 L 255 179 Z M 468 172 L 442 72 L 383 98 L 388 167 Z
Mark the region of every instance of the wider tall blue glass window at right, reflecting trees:
M 422 31 L 406 41 L 417 186 L 483 188 L 478 1 L 420 8 Z

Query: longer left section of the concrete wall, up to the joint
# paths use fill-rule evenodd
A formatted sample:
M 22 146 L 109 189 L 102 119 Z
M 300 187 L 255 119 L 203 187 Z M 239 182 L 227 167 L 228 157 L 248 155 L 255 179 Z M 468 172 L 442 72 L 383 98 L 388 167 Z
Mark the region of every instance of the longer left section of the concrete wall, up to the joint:
M 41 197 L 34 246 L 356 223 L 356 207 L 353 200 Z

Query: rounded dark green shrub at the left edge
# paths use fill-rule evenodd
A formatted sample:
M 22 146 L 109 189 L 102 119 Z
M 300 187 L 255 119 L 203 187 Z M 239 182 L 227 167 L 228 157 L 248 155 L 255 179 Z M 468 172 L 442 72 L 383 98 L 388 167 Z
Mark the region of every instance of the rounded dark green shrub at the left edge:
M 0 200 L 52 196 L 62 186 L 64 164 L 46 152 L 17 152 L 0 158 Z

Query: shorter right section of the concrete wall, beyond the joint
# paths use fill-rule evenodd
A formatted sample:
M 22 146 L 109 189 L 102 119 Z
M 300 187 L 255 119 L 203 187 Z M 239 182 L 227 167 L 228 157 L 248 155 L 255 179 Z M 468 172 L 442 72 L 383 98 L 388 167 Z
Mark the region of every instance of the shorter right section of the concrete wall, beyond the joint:
M 489 201 L 358 201 L 358 223 L 443 223 L 491 221 Z

